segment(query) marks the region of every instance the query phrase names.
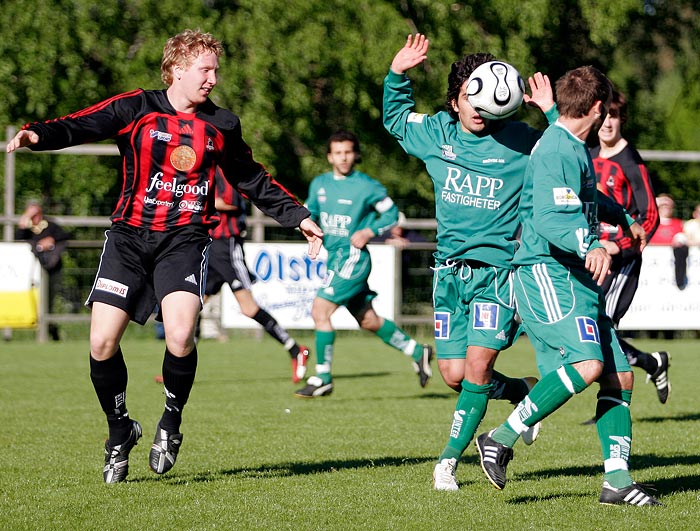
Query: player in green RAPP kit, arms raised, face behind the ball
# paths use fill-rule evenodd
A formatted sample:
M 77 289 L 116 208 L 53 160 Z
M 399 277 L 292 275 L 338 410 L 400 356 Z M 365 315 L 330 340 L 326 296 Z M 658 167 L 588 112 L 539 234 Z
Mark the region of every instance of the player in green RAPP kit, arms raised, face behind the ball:
M 433 473 L 437 490 L 457 490 L 457 463 L 486 413 L 489 398 L 517 404 L 535 378 L 493 370 L 518 336 L 511 282 L 517 206 L 528 157 L 541 131 L 512 120 L 488 120 L 467 101 L 469 75 L 495 58 L 477 53 L 452 65 L 446 111 L 415 112 L 406 71 L 427 57 L 429 41 L 409 35 L 384 80 L 384 126 L 433 181 L 437 251 L 433 280 L 435 345 L 445 383 L 459 392 L 448 443 Z M 556 118 L 552 87 L 540 73 L 525 101 Z M 528 442 L 537 435 L 536 426 Z

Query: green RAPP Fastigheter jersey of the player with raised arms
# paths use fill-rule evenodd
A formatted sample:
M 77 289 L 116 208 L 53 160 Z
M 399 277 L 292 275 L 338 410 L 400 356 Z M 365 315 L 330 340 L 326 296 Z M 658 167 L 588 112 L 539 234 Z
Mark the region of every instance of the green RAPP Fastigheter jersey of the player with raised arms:
M 445 111 L 428 116 L 413 112 L 414 106 L 410 80 L 389 71 L 384 127 L 406 153 L 425 163 L 433 181 L 436 260 L 511 267 L 523 177 L 542 132 L 506 120 L 492 134 L 477 136 L 462 130 Z

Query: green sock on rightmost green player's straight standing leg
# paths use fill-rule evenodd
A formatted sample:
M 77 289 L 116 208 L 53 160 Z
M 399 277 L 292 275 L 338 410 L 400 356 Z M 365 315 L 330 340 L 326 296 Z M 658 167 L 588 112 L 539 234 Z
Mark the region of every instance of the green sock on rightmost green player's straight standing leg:
M 596 428 L 603 449 L 605 481 L 616 489 L 632 484 L 629 457 L 632 447 L 632 391 L 606 389 L 598 393 Z

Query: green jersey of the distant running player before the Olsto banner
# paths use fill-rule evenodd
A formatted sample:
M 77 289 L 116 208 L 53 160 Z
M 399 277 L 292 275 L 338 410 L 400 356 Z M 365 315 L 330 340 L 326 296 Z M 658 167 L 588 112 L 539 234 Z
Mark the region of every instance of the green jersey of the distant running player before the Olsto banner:
M 366 228 L 381 235 L 399 219 L 399 209 L 386 188 L 359 171 L 347 176 L 327 172 L 315 177 L 305 206 L 323 229 L 329 269 L 344 278 L 352 278 L 358 268 L 369 264 L 367 248 L 356 249 L 350 237 Z

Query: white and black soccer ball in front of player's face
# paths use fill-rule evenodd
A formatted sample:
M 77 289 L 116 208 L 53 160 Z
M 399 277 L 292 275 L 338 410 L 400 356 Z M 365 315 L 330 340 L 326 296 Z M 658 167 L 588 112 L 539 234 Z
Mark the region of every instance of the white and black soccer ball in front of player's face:
M 467 80 L 467 101 L 482 118 L 500 120 L 515 114 L 523 102 L 525 83 L 508 63 L 489 61 Z

